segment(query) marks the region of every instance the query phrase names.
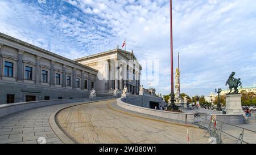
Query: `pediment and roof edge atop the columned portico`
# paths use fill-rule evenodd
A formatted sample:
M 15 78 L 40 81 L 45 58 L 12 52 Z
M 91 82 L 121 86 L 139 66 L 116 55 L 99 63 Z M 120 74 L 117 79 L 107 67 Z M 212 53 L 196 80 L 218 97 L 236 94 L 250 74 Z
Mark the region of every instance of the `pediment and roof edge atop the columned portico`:
M 135 60 L 135 61 L 138 62 L 138 59 L 135 57 L 133 51 L 129 52 L 129 51 L 122 50 L 122 49 L 119 49 L 119 48 L 113 49 L 113 50 L 104 51 L 104 52 L 93 54 L 93 55 L 88 55 L 88 56 L 82 57 L 82 58 L 77 58 L 77 59 L 74 59 L 73 61 L 81 62 L 81 61 L 86 61 L 86 60 L 89 60 L 89 59 L 94 59 L 94 58 L 98 58 L 98 57 L 102 57 L 104 55 L 109 55 L 109 54 L 114 54 L 114 53 L 122 54 L 128 60 Z M 127 57 L 126 54 L 130 55 L 131 57 Z M 139 64 L 139 67 L 142 69 L 141 64 Z

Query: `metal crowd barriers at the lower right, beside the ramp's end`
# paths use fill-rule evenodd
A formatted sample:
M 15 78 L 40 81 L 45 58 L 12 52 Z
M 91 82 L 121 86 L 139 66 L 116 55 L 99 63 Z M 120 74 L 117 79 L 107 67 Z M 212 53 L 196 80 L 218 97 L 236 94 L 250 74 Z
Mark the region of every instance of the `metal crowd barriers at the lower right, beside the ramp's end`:
M 214 119 L 211 117 L 211 115 L 208 115 L 208 114 L 201 114 L 201 115 L 205 115 L 205 117 L 201 117 L 200 115 L 195 115 L 193 124 L 195 124 L 196 126 L 199 126 L 199 128 L 203 128 L 204 130 L 206 130 L 207 132 L 205 133 L 204 136 L 207 136 L 207 134 L 209 134 L 210 138 L 212 140 L 216 140 L 216 143 L 218 144 L 222 143 L 222 136 L 224 134 L 225 136 L 232 137 L 232 139 L 236 140 L 236 141 L 233 141 L 233 143 L 236 143 L 236 144 L 238 143 L 249 144 L 248 141 L 244 140 L 245 131 L 250 132 L 251 134 L 253 134 L 253 136 L 256 137 L 256 131 L 249 130 L 247 128 L 243 128 L 240 126 L 236 126 L 234 124 L 230 124 L 230 123 L 223 122 L 221 120 Z M 234 129 L 230 130 L 230 128 L 234 128 Z M 235 134 L 230 134 L 229 131 L 238 131 L 238 136 Z

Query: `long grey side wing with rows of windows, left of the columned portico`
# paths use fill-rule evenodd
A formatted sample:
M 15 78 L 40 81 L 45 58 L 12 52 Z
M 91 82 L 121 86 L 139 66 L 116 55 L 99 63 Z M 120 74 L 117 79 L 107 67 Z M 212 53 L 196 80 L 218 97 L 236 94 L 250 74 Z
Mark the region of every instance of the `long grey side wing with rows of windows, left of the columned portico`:
M 0 104 L 85 98 L 97 70 L 0 33 Z

